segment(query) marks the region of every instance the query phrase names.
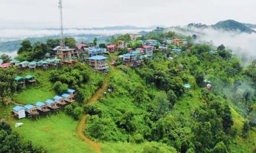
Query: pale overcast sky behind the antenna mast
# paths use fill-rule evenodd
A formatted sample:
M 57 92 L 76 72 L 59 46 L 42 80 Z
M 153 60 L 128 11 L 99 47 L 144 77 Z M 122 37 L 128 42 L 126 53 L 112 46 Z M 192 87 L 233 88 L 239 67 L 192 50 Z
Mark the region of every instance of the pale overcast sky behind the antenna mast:
M 63 0 L 65 27 L 256 24 L 255 0 Z M 0 28 L 58 27 L 58 0 L 0 0 Z

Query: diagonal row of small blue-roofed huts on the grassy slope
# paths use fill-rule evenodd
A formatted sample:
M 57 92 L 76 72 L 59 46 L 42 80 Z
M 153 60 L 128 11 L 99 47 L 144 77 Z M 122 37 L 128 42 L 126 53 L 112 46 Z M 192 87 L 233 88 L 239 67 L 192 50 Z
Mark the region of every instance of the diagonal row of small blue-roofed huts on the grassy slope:
M 37 102 L 35 105 L 25 105 L 25 106 L 14 106 L 12 113 L 13 117 L 17 119 L 22 119 L 25 117 L 35 117 L 37 115 L 45 115 L 48 112 L 56 111 L 63 108 L 65 105 L 74 102 L 74 97 L 76 96 L 76 91 L 73 89 L 68 89 L 67 93 L 61 96 L 54 96 L 52 99 L 47 99 L 44 103 Z

